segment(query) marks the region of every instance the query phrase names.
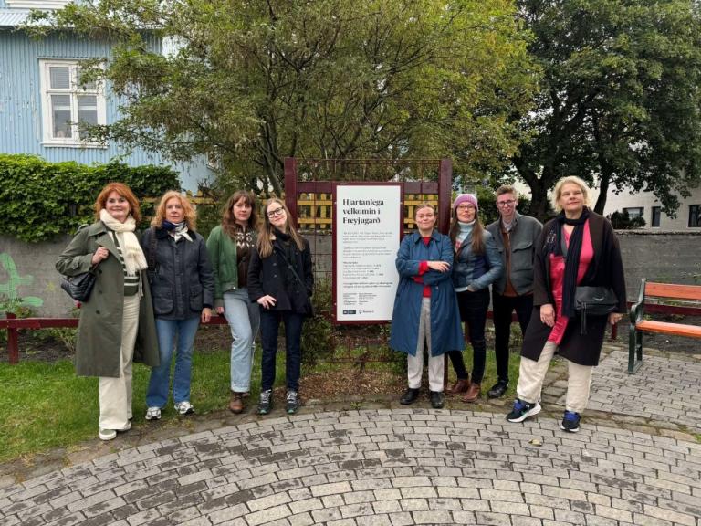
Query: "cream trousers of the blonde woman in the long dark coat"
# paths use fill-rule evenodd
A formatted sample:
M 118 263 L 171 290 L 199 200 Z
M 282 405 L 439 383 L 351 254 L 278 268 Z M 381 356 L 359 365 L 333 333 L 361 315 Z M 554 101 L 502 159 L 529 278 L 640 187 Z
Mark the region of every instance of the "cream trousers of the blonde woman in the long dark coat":
M 553 355 L 558 350 L 554 342 L 546 342 L 543 351 L 540 352 L 538 362 L 521 357 L 521 365 L 518 369 L 518 385 L 516 395 L 519 400 L 534 404 L 540 400 L 540 391 L 543 388 L 545 374 Z M 580 365 L 568 360 L 567 397 L 565 409 L 573 413 L 582 413 L 587 408 L 589 401 L 589 389 L 591 386 L 591 373 L 594 368 L 590 365 Z

